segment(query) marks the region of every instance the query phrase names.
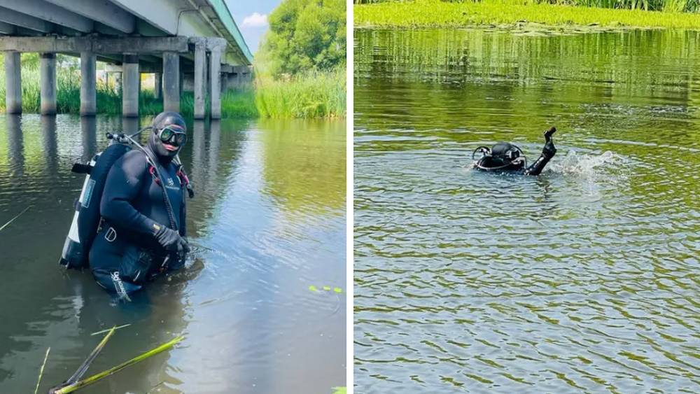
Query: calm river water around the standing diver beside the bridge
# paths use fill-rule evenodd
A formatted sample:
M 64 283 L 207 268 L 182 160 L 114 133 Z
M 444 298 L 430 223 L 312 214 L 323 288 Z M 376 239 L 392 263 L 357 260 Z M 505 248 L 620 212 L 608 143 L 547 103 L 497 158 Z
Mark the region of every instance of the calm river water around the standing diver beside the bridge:
M 59 267 L 83 184 L 71 165 L 105 132 L 149 121 L 0 115 L 0 226 L 30 206 L 0 230 L 0 393 L 33 391 L 50 347 L 45 393 L 87 358 L 93 332 L 124 324 L 85 377 L 186 339 L 85 393 L 345 386 L 344 121 L 190 121 L 187 269 L 114 304 L 88 272 Z

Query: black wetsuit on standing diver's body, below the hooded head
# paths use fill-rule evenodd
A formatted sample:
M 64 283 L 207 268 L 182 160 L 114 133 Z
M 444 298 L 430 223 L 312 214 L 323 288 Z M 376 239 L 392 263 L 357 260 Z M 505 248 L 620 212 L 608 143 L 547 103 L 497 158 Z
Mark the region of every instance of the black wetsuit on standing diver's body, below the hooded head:
M 172 203 L 175 229 L 186 235 L 185 199 L 178 167 L 153 154 L 158 160 Z M 158 226 L 173 228 L 165 205 L 162 187 L 151 173 L 146 154 L 130 150 L 120 157 L 107 175 L 100 215 L 102 225 L 90 248 L 90 269 L 97 282 L 109 293 L 124 296 L 139 290 L 144 281 L 164 270 L 178 269 L 182 262 L 168 258 L 158 241 Z M 166 265 L 164 266 L 164 261 Z

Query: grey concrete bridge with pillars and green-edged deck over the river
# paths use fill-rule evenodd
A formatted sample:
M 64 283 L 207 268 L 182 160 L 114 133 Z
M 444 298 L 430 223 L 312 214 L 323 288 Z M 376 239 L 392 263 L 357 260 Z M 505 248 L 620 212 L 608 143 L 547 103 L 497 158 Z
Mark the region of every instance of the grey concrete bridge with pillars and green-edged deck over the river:
M 195 118 L 221 118 L 222 88 L 251 80 L 253 59 L 224 0 L 0 0 L 0 51 L 7 113 L 22 112 L 20 52 L 41 54 L 45 115 L 56 113 L 56 53 L 80 57 L 80 115 L 96 112 L 97 60 L 115 65 L 125 117 L 139 115 L 140 74 L 155 73 L 165 111 L 180 111 L 192 80 Z

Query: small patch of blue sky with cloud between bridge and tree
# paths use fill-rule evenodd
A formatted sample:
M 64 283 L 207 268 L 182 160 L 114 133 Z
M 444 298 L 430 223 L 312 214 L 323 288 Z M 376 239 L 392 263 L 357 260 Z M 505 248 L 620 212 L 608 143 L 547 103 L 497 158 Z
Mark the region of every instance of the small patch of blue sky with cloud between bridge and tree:
M 255 53 L 260 44 L 260 38 L 267 31 L 267 15 L 281 3 L 281 0 L 225 0 L 228 9 L 236 21 L 238 29 L 248 44 L 251 52 Z

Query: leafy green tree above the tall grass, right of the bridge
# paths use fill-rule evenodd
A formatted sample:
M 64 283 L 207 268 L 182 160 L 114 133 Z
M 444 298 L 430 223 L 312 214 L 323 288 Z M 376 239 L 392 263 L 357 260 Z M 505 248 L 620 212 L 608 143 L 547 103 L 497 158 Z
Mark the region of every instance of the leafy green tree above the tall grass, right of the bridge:
M 274 76 L 345 64 L 345 2 L 283 0 L 269 15 L 260 58 Z

